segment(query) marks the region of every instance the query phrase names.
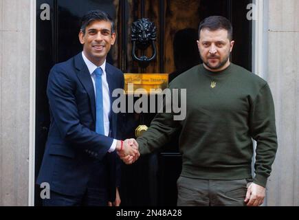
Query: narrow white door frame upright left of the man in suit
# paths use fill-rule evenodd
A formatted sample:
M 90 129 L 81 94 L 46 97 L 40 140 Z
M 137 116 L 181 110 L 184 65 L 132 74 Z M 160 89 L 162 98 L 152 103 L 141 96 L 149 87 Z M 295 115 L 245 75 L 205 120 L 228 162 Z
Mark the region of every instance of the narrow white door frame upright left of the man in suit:
M 35 87 L 36 80 L 36 0 L 30 0 L 30 126 L 28 206 L 34 206 L 35 169 Z

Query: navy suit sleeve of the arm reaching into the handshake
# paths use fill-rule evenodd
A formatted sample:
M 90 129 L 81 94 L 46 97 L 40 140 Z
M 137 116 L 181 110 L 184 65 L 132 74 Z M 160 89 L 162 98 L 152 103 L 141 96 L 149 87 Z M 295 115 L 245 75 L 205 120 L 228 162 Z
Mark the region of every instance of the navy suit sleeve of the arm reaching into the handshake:
M 49 74 L 47 97 L 49 107 L 60 135 L 74 148 L 92 151 L 95 157 L 102 157 L 109 150 L 113 139 L 91 131 L 80 123 L 76 105 L 76 81 L 67 75 L 60 65 L 55 65 Z

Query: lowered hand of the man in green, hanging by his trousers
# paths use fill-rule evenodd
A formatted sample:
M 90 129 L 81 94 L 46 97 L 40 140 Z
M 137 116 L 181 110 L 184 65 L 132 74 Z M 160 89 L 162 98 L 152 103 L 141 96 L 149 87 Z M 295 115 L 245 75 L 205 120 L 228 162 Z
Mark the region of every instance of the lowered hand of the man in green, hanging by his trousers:
M 247 188 L 245 203 L 247 206 L 261 206 L 266 196 L 266 188 L 258 184 L 250 184 Z

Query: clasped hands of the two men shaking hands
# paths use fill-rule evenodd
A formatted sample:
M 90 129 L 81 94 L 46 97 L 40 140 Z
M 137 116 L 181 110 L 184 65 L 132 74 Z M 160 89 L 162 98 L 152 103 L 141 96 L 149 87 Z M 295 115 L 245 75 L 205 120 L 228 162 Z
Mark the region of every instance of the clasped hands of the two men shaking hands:
M 118 140 L 116 151 L 125 164 L 133 164 L 140 157 L 138 143 L 133 138 L 124 141 Z

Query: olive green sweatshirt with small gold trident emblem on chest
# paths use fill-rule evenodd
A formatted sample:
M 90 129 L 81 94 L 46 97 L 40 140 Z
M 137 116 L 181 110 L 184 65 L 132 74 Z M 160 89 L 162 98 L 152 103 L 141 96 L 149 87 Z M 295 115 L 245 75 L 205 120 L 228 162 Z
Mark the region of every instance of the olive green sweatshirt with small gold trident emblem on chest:
M 265 80 L 232 63 L 221 72 L 197 65 L 175 78 L 170 89 L 186 89 L 186 118 L 157 113 L 137 138 L 140 153 L 164 146 L 181 128 L 181 176 L 244 179 L 252 177 L 254 139 L 254 183 L 265 186 L 277 150 L 274 102 Z

